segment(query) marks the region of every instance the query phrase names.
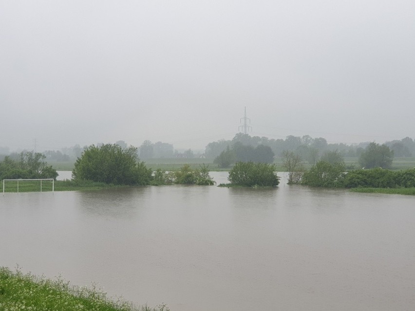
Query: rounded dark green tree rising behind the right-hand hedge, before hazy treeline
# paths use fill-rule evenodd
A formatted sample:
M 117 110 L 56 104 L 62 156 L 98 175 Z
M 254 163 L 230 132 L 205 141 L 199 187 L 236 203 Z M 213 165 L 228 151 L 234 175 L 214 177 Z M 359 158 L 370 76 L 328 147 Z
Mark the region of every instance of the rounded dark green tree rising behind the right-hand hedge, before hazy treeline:
M 385 144 L 375 142 L 369 144 L 360 154 L 359 164 L 365 168 L 390 168 L 394 159 L 394 152 Z

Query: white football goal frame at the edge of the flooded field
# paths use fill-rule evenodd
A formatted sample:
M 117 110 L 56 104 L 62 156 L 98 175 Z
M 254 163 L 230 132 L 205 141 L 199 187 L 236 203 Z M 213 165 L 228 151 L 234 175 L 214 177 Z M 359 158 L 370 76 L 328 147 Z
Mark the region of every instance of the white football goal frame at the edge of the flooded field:
M 5 192 L 55 191 L 55 180 L 44 179 L 3 179 L 3 195 Z

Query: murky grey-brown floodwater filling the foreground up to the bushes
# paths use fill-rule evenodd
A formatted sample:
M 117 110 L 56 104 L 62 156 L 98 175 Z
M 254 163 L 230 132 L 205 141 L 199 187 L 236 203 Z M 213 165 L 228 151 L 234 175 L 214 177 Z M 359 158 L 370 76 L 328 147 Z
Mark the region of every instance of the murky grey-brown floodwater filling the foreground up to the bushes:
M 211 173 L 225 182 L 227 173 Z M 172 311 L 414 310 L 415 198 L 284 185 L 0 197 L 0 266 Z

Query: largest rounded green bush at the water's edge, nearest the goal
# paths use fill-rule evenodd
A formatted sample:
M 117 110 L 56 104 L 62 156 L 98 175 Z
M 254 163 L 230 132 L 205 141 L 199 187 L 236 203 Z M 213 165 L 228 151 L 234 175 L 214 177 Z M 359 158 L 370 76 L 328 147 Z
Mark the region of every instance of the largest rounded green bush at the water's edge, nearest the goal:
M 116 144 L 85 148 L 75 162 L 72 176 L 75 180 L 128 185 L 149 184 L 152 178 L 151 169 L 140 162 L 136 147 L 123 149 Z

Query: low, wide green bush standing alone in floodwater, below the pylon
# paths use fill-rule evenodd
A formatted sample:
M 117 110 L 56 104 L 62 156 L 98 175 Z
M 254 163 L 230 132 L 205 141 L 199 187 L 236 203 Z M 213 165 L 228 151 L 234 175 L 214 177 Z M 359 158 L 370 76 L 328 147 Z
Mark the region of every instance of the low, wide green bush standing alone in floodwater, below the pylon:
M 245 187 L 275 187 L 280 183 L 280 178 L 275 170 L 273 164 L 237 162 L 229 171 L 228 180 L 231 184 Z

